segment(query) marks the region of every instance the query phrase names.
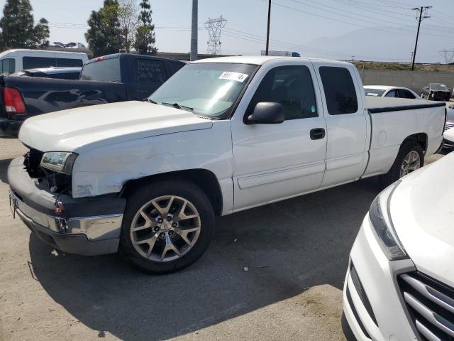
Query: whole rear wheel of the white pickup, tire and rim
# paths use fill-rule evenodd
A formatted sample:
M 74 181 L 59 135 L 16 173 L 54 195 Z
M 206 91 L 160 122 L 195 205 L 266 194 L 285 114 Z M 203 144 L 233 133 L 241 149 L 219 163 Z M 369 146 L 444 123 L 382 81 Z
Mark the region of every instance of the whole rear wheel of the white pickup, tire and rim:
M 399 149 L 397 158 L 388 173 L 380 175 L 382 187 L 387 187 L 399 178 L 416 171 L 424 165 L 424 152 L 420 144 L 406 141 Z

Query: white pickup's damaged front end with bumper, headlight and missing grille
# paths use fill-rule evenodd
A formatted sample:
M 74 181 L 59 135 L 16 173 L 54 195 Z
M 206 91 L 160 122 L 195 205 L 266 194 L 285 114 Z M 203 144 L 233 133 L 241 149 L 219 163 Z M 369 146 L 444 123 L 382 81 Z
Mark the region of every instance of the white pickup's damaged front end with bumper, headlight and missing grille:
M 13 217 L 55 249 L 90 256 L 114 253 L 126 198 L 72 197 L 71 163 L 76 158 L 74 153 L 30 148 L 23 158 L 13 159 L 7 175 Z

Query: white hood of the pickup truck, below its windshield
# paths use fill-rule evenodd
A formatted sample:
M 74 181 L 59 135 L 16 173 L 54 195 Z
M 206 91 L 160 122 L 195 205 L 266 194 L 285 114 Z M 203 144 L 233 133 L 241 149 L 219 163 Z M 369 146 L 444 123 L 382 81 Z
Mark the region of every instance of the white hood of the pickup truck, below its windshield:
M 210 129 L 209 119 L 149 102 L 119 102 L 52 112 L 24 121 L 23 144 L 39 151 L 99 148 L 133 139 Z

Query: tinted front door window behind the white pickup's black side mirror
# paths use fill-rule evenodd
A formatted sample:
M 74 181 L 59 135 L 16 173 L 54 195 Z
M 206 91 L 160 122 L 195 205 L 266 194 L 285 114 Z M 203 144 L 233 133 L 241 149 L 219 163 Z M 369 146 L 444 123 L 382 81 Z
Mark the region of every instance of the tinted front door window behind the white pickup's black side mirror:
M 314 84 L 304 65 L 279 66 L 263 78 L 248 107 L 252 114 L 259 102 L 276 102 L 284 109 L 285 120 L 318 117 Z

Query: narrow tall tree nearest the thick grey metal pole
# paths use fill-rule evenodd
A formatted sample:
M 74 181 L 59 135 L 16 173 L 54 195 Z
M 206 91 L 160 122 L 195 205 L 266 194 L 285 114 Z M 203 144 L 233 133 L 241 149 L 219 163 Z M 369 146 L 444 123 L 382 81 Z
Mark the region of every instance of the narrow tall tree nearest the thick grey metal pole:
M 152 23 L 151 5 L 148 0 L 140 2 L 139 26 L 135 33 L 134 48 L 138 53 L 143 55 L 155 55 L 157 48 L 155 47 L 155 24 Z

